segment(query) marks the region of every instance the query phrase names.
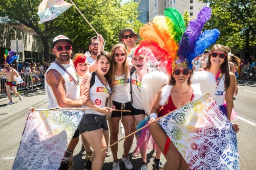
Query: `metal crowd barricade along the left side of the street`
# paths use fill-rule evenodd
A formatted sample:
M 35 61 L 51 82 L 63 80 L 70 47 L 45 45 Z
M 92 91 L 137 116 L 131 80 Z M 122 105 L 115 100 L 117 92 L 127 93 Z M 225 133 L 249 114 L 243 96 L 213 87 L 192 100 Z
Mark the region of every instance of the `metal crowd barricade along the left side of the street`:
M 17 84 L 18 90 L 33 90 L 37 86 L 45 86 L 45 71 L 40 71 L 40 73 L 30 74 L 30 72 L 19 73 L 22 77 L 24 83 Z M 6 76 L 2 75 L 0 78 L 0 98 L 6 95 L 5 84 L 7 82 Z

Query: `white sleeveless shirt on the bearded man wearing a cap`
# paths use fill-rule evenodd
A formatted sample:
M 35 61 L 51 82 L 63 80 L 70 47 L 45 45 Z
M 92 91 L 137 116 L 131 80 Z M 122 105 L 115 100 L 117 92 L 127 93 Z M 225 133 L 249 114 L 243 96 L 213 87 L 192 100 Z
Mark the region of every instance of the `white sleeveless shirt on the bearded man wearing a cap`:
M 70 74 L 76 79 L 76 81 L 78 81 L 76 77 L 76 70 L 72 60 L 70 60 L 70 64 L 61 64 L 61 65 L 70 72 Z M 65 80 L 64 89 L 66 92 L 66 98 L 69 98 L 74 101 L 78 101 L 80 96 L 80 85 L 77 86 L 76 83 L 67 74 L 67 72 L 65 72 L 55 62 L 53 62 L 51 63 L 50 67 L 47 69 L 46 76 L 45 76 L 46 95 L 47 95 L 47 100 L 49 102 L 48 108 L 59 108 L 59 105 L 52 91 L 52 88 L 47 83 L 47 73 L 50 69 L 57 70 L 59 74 L 62 75 L 62 77 L 64 78 Z

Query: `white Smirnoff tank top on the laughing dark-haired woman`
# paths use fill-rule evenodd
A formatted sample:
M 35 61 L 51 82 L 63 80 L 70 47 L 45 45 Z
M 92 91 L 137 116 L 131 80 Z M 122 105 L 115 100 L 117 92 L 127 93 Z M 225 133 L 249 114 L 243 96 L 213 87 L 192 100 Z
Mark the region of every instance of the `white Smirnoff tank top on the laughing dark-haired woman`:
M 110 86 L 107 86 L 110 89 Z M 100 82 L 98 77 L 95 75 L 95 83 L 90 88 L 90 100 L 98 107 L 105 107 L 106 99 L 109 98 L 109 90 Z M 86 107 L 88 108 L 88 107 Z M 86 111 L 86 114 L 98 114 L 105 116 L 104 113 L 100 113 L 94 110 Z

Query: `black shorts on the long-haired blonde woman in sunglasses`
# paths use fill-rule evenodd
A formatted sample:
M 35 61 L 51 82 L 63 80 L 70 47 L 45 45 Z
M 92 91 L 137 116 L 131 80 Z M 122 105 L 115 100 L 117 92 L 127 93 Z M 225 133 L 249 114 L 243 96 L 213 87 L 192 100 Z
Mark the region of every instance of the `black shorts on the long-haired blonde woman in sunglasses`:
M 127 115 L 132 115 L 133 116 L 132 103 L 127 102 L 124 105 L 125 105 L 125 107 L 123 107 L 122 110 L 131 110 L 131 112 L 122 112 L 122 116 L 127 116 Z M 122 107 L 121 103 L 113 101 L 113 109 L 121 110 L 121 107 Z M 111 117 L 121 117 L 121 112 L 120 111 L 113 111 Z

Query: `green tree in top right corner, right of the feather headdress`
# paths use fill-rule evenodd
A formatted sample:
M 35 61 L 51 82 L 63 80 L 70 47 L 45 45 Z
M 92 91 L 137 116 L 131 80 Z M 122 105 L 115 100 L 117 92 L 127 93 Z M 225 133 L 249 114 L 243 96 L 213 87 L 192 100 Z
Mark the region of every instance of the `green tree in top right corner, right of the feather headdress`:
M 256 2 L 253 0 L 202 0 L 212 9 L 205 29 L 217 28 L 221 35 L 217 43 L 234 50 L 245 49 L 249 58 L 250 46 L 256 45 Z

